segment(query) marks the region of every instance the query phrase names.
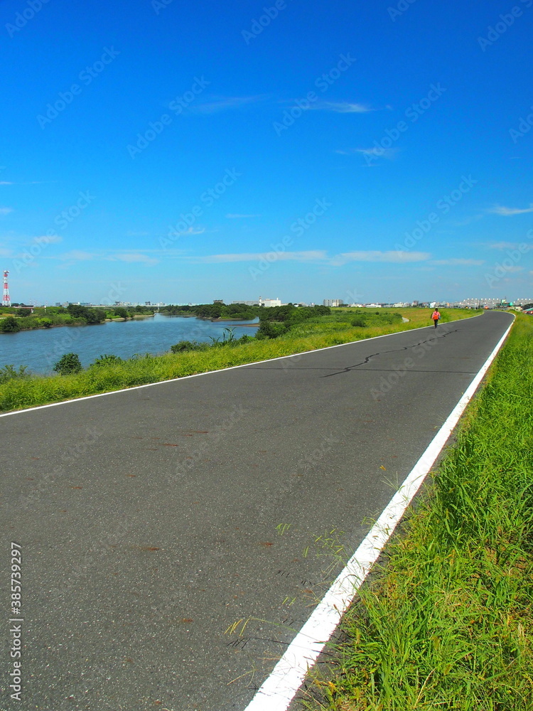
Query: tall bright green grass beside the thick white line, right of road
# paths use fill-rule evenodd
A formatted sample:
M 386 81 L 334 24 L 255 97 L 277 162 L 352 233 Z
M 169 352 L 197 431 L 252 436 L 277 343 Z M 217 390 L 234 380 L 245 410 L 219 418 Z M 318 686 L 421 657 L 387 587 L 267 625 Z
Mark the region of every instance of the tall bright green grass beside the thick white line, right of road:
M 533 708 L 532 363 L 533 320 L 518 316 L 309 707 Z

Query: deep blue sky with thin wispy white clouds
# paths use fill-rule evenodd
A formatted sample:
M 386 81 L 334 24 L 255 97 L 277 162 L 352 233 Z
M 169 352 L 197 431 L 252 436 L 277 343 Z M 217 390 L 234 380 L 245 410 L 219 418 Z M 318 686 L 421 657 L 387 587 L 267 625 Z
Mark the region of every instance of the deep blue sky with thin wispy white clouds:
M 533 0 L 0 14 L 13 301 L 533 296 Z

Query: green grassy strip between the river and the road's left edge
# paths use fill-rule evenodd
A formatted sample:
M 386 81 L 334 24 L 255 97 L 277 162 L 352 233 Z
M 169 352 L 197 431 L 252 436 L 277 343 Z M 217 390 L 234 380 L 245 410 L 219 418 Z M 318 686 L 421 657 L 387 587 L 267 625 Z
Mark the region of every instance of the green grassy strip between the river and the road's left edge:
M 158 383 L 161 380 L 181 378 L 184 375 L 220 370 L 230 365 L 254 363 L 258 360 L 291 355 L 316 348 L 334 346 L 363 338 L 372 338 L 396 331 L 408 331 L 419 326 L 429 326 L 429 309 L 334 309 L 329 316 L 318 316 L 292 326 L 288 333 L 278 338 L 253 339 L 249 343 L 234 343 L 207 348 L 203 351 L 165 353 L 124 360 L 120 363 L 91 367 L 73 375 L 33 376 L 14 378 L 0 385 L 0 411 L 21 407 L 45 405 L 49 402 L 70 400 L 74 397 L 111 392 L 124 387 Z M 464 319 L 477 312 L 450 309 L 443 312 L 443 322 Z M 352 326 L 361 314 L 367 326 Z M 403 324 L 399 316 L 409 320 Z M 387 320 L 392 323 L 385 323 Z M 9 337 L 9 336 L 4 336 Z

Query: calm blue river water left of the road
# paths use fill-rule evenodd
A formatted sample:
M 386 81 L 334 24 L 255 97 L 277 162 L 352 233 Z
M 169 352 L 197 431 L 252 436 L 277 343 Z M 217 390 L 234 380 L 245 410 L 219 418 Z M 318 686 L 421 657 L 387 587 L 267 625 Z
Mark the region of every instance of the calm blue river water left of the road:
M 256 328 L 243 326 L 258 321 L 203 321 L 183 316 L 155 314 L 134 321 L 109 321 L 97 326 L 61 326 L 60 328 L 0 333 L 0 367 L 27 365 L 33 373 L 51 373 L 63 353 L 77 353 L 84 367 L 104 353 L 131 358 L 135 353 L 157 355 L 169 351 L 178 341 L 210 342 L 220 338 L 224 328 L 232 328 L 235 338 L 246 333 L 254 336 Z

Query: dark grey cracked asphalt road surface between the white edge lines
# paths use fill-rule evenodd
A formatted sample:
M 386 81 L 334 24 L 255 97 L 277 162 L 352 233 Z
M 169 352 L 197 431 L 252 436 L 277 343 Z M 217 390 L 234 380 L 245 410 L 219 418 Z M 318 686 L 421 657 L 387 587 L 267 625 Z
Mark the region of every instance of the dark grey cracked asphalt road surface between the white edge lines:
M 5 708 L 242 711 L 511 321 L 0 418 L 24 619 Z

